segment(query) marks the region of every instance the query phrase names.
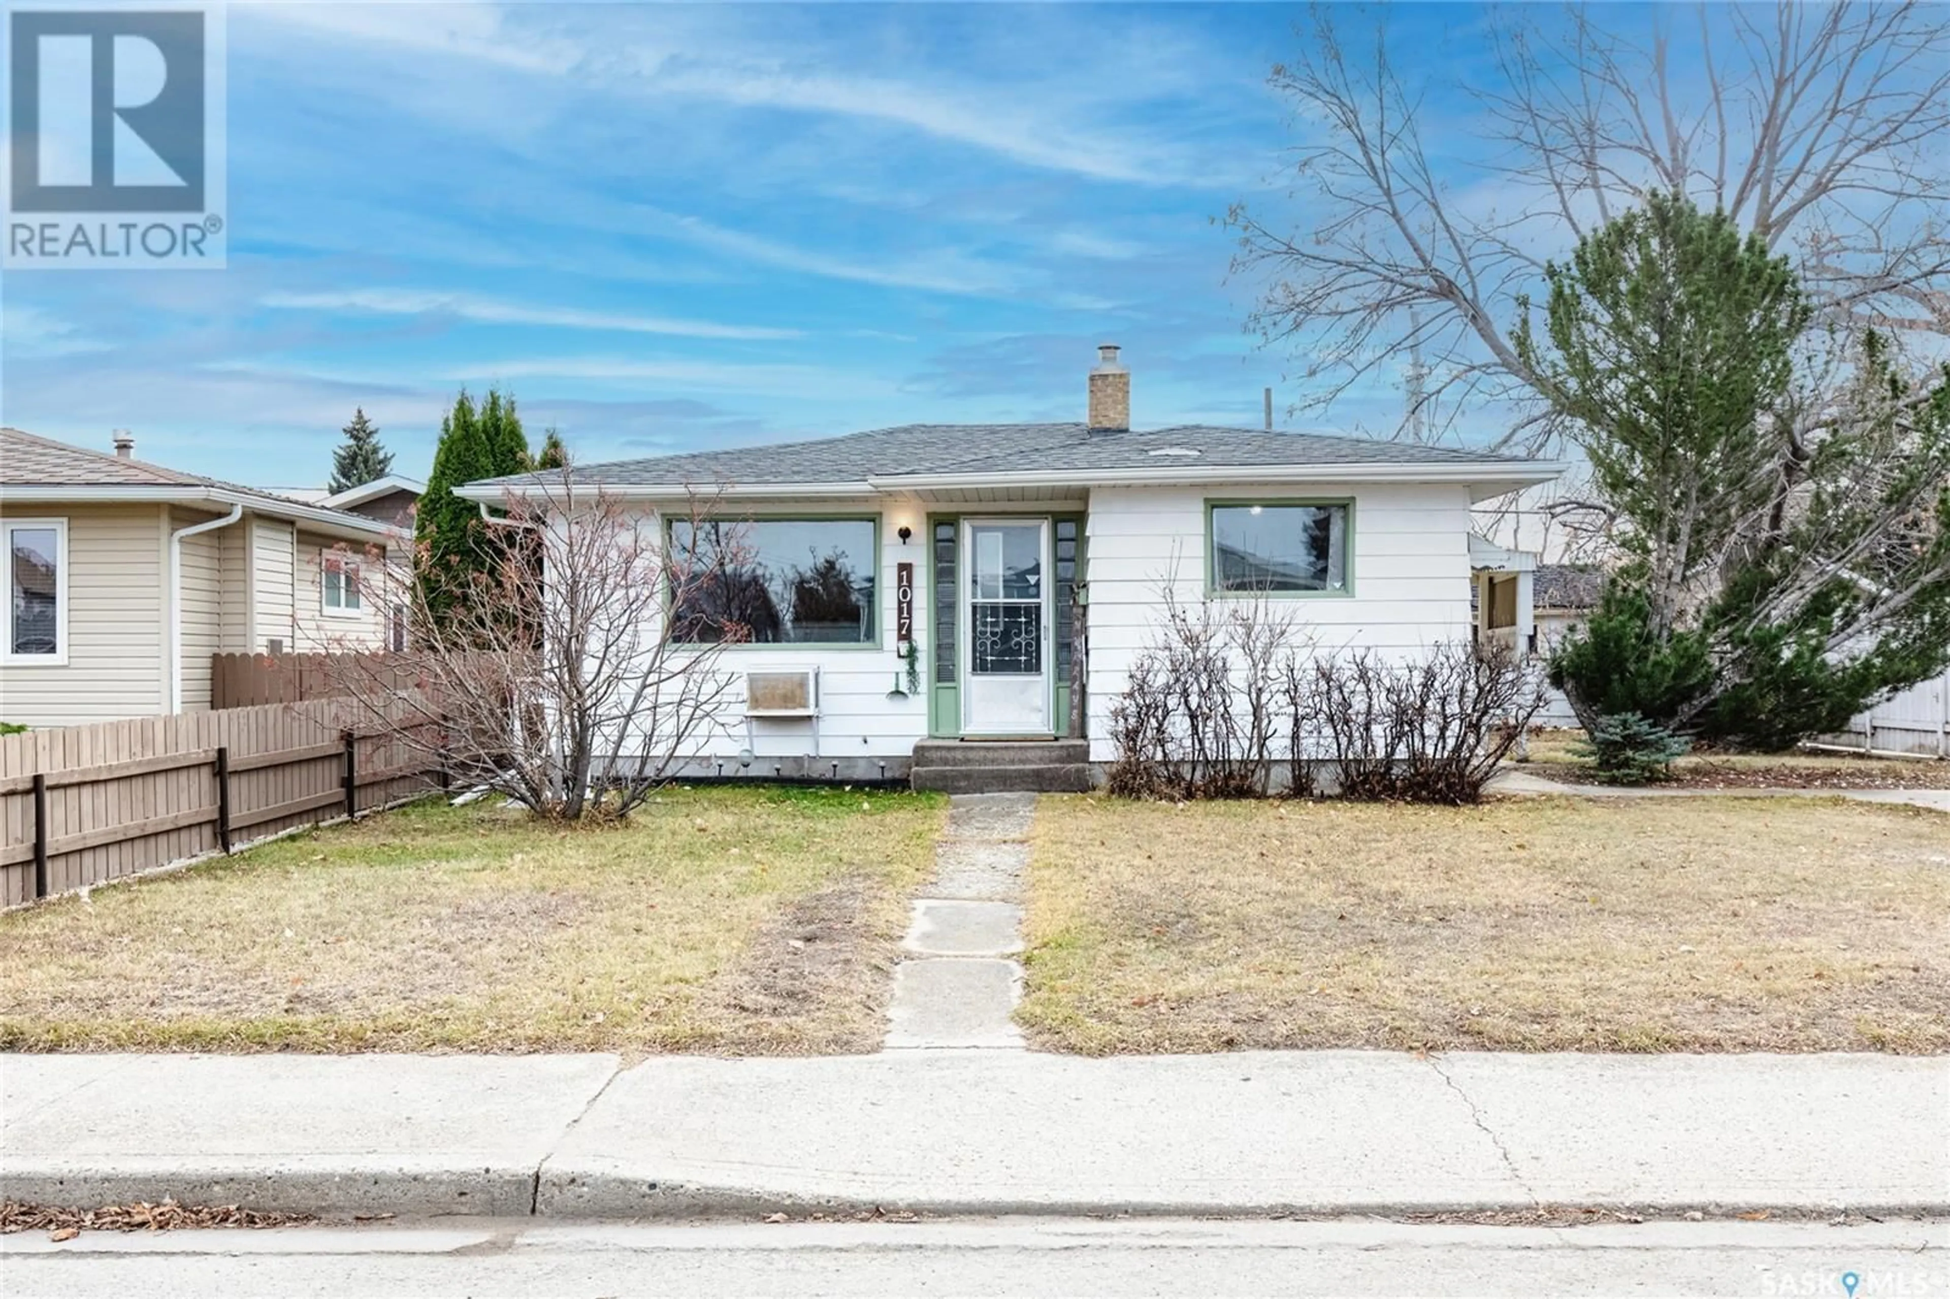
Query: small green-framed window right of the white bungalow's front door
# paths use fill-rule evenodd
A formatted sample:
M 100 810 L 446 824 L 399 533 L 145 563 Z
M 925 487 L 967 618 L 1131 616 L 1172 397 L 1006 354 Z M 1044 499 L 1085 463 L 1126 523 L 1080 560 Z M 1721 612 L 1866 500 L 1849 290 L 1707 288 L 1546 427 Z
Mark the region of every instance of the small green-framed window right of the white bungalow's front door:
M 1225 595 L 1347 595 L 1344 501 L 1211 505 L 1211 589 Z

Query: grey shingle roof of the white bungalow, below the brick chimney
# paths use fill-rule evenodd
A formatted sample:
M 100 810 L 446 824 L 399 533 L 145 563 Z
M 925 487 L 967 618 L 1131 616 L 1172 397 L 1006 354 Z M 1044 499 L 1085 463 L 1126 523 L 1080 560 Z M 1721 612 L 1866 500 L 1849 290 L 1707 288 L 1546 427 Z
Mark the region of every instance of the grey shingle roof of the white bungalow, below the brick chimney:
M 1172 454 L 1195 451 L 1197 454 Z M 579 464 L 575 482 L 657 488 L 712 482 L 864 482 L 932 474 L 1154 470 L 1168 464 L 1268 468 L 1297 464 L 1507 464 L 1531 460 L 1320 433 L 1215 425 L 1104 431 L 1082 423 L 905 423 L 776 447 L 731 447 L 647 460 Z M 517 484 L 493 478 L 478 486 Z

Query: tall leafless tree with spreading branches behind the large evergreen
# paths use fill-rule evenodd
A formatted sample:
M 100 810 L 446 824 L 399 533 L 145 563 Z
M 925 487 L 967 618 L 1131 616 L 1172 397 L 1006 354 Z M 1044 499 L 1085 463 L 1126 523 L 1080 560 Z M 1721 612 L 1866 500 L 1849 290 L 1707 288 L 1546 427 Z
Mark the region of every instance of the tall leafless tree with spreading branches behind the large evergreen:
M 1459 88 L 1474 121 L 1437 129 L 1427 62 L 1404 72 L 1384 21 L 1349 39 L 1336 12 L 1312 12 L 1303 55 L 1271 72 L 1303 137 L 1297 211 L 1230 213 L 1234 269 L 1264 283 L 1252 328 L 1306 357 L 1303 408 L 1400 382 L 1404 435 L 1457 437 L 1464 412 L 1496 412 L 1500 449 L 1552 447 L 1562 404 L 1513 345 L 1523 298 L 1546 259 L 1654 191 L 1790 254 L 1841 335 L 1876 326 L 1940 355 L 1950 8 L 1673 8 L 1642 39 L 1626 21 L 1603 6 L 1498 14 L 1492 82 Z

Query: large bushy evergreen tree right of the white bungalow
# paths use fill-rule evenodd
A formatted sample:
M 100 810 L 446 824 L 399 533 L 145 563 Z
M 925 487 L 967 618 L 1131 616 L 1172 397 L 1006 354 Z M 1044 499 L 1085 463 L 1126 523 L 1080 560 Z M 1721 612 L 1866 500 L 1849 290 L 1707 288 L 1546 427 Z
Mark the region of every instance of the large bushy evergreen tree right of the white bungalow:
M 1609 714 L 1780 749 L 1950 659 L 1950 371 L 1800 390 L 1819 337 L 1786 257 L 1654 195 L 1546 267 L 1548 347 L 1517 328 L 1620 529 L 1595 616 L 1552 657 L 1585 729 Z M 1907 400 L 1909 392 L 1929 400 Z M 1796 406 L 1819 398 L 1815 433 Z

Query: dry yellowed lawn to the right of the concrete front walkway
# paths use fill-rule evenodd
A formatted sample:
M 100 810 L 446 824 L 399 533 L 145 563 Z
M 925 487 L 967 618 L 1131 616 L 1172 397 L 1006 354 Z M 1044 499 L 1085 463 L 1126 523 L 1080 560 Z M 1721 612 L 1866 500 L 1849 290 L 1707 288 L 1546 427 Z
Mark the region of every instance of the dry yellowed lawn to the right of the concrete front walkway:
M 1035 817 L 1037 1045 L 1950 1051 L 1950 815 L 1815 798 Z

